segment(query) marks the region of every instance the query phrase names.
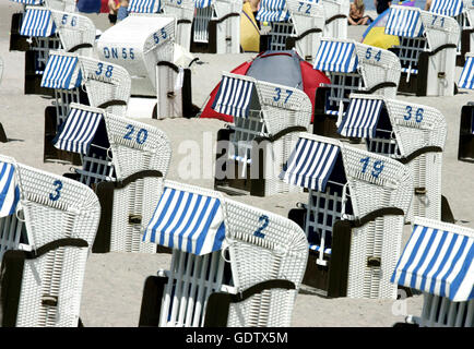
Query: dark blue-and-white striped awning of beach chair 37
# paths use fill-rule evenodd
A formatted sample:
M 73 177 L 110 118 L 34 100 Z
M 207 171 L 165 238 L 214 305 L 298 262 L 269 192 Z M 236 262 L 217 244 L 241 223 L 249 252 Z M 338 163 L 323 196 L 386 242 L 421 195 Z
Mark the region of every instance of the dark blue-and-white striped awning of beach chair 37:
M 224 115 L 247 118 L 253 87 L 251 81 L 224 75 L 212 109 Z

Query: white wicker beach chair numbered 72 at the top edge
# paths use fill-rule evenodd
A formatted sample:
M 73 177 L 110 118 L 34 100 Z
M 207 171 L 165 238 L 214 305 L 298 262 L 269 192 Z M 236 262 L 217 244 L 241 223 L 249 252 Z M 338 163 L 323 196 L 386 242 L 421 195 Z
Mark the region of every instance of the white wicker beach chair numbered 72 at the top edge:
M 271 26 L 268 43 L 261 38 L 261 51 L 296 48 L 300 57 L 312 62 L 324 29 L 324 9 L 321 3 L 263 0 L 257 20 L 269 22 Z

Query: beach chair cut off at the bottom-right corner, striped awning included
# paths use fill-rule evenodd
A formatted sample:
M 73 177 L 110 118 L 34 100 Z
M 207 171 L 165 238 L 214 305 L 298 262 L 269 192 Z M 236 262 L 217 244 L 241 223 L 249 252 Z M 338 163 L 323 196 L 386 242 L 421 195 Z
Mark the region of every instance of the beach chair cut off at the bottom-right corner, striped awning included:
M 424 301 L 404 325 L 474 327 L 473 256 L 473 229 L 415 217 L 392 282 L 422 291 Z

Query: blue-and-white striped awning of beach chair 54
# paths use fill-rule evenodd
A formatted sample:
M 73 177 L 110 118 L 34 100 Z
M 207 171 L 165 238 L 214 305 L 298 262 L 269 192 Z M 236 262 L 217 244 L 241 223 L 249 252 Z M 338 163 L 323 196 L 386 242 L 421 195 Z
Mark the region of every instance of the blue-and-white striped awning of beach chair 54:
M 316 70 L 335 73 L 352 73 L 358 59 L 354 43 L 321 40 L 315 59 Z

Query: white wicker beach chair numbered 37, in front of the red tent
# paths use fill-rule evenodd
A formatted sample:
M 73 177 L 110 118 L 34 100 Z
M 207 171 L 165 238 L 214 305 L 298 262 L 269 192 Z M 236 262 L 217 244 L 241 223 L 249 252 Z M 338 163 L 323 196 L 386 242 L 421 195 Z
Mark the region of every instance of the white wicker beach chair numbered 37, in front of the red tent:
M 234 117 L 217 133 L 215 189 L 258 196 L 297 190 L 279 173 L 297 132 L 311 121 L 311 103 L 301 89 L 224 73 L 212 108 Z

